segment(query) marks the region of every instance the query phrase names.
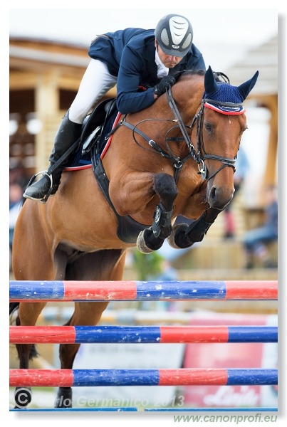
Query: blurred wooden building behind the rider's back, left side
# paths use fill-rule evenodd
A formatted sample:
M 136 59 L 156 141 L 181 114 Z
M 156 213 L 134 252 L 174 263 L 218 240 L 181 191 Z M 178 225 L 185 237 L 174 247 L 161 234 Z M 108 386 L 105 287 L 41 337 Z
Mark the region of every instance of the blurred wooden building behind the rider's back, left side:
M 48 167 L 53 139 L 78 92 L 88 46 L 32 38 L 10 39 L 10 167 L 27 174 Z M 115 89 L 107 96 L 114 97 Z

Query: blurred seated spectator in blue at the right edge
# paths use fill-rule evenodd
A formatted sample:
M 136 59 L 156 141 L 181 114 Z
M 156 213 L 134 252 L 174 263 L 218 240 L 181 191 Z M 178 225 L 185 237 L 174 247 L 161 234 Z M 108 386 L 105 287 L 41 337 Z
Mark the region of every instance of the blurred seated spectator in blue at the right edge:
M 254 261 L 259 260 L 266 268 L 276 268 L 277 263 L 271 260 L 266 243 L 278 239 L 278 201 L 274 186 L 266 186 L 265 221 L 259 228 L 247 231 L 243 239 L 246 254 L 246 268 L 254 268 Z

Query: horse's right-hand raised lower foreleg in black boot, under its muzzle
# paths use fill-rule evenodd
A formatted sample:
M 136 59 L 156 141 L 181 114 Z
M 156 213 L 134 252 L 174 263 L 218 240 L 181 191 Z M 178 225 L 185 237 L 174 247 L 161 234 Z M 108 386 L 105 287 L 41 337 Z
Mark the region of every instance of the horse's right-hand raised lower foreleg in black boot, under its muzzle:
M 220 212 L 219 209 L 209 208 L 189 226 L 187 224 L 175 226 L 168 238 L 169 246 L 182 249 L 189 248 L 196 242 L 201 242 Z

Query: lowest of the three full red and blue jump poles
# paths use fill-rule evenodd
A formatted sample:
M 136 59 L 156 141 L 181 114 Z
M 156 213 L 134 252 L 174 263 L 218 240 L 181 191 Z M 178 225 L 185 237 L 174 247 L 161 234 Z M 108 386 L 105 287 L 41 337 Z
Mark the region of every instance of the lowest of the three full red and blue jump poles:
M 10 369 L 10 386 L 271 386 L 277 369 Z

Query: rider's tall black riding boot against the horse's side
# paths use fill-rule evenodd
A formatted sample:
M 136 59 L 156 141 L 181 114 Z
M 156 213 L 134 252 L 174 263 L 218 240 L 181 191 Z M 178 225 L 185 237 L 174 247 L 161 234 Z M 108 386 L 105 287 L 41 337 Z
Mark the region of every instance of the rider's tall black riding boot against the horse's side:
M 68 118 L 68 112 L 66 112 L 55 137 L 53 151 L 49 158 L 50 166 L 46 172 L 43 172 L 38 181 L 34 181 L 37 174 L 32 177 L 24 192 L 26 199 L 45 203 L 48 196 L 56 193 L 60 185 L 62 171 L 68 162 L 68 157 L 63 159 L 63 162 L 60 161 L 58 166 L 55 167 L 55 164 L 80 137 L 81 131 L 82 125 L 71 122 Z

